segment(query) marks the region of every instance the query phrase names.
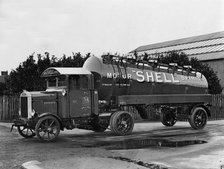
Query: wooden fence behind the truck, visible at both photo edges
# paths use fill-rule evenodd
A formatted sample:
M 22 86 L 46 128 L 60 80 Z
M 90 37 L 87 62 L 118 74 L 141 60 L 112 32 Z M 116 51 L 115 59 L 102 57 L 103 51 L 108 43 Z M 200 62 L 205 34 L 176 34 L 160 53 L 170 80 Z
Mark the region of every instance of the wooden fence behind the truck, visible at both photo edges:
M 212 96 L 212 107 L 210 110 L 210 120 L 224 119 L 224 95 L 219 94 Z M 0 121 L 12 121 L 18 116 L 18 111 L 19 98 L 17 96 L 0 96 Z M 134 112 L 136 112 L 136 110 Z M 136 118 L 139 118 L 139 115 L 136 114 Z M 150 120 L 158 121 L 159 115 L 151 113 Z

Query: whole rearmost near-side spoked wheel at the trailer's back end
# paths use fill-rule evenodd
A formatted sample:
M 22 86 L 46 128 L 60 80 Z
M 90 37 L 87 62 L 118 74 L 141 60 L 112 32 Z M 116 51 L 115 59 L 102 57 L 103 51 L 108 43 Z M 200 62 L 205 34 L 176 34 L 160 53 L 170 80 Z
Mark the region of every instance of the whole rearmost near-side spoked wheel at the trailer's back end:
M 189 123 L 193 129 L 203 129 L 207 124 L 208 115 L 203 107 L 193 108 Z

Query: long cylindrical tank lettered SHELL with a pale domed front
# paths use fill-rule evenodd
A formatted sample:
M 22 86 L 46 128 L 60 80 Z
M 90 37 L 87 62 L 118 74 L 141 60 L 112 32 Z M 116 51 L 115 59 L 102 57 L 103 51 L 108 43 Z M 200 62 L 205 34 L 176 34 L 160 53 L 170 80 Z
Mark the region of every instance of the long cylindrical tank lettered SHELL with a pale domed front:
M 208 88 L 201 73 L 168 65 L 105 62 L 92 56 L 83 67 L 94 74 L 99 100 L 121 95 L 206 94 Z

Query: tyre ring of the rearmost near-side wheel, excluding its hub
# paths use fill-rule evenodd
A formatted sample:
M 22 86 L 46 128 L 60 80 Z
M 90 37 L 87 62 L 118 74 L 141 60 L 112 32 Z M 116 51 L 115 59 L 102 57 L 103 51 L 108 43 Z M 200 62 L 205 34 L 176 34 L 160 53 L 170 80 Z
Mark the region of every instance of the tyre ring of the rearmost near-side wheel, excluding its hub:
M 205 122 L 201 126 L 197 126 L 197 124 L 195 123 L 195 116 L 198 111 L 203 111 L 203 113 L 205 115 L 204 116 Z M 208 114 L 207 114 L 207 111 L 203 107 L 195 107 L 191 110 L 191 115 L 189 117 L 189 123 L 193 129 L 195 129 L 195 130 L 203 129 L 206 126 L 207 121 L 208 121 Z

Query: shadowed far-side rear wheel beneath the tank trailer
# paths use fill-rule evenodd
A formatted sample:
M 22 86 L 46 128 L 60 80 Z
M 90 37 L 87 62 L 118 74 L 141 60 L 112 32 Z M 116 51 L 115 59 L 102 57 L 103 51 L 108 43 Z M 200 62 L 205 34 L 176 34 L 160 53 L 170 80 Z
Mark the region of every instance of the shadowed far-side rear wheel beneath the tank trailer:
M 177 116 L 174 112 L 162 112 L 160 120 L 164 126 L 173 126 L 177 122 Z

